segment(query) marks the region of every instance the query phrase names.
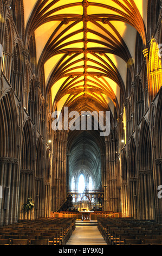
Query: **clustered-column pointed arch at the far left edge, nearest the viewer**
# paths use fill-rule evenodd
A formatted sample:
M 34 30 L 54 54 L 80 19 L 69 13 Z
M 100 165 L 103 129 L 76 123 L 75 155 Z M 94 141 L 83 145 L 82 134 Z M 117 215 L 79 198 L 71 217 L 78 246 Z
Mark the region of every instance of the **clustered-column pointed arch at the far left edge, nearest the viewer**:
M 17 197 L 19 187 L 18 171 L 18 120 L 14 94 L 10 88 L 2 91 L 0 97 L 0 176 L 3 195 L 8 191 L 7 206 L 5 197 L 1 199 L 1 223 L 6 225 L 18 219 Z M 10 200 L 9 200 L 10 199 Z

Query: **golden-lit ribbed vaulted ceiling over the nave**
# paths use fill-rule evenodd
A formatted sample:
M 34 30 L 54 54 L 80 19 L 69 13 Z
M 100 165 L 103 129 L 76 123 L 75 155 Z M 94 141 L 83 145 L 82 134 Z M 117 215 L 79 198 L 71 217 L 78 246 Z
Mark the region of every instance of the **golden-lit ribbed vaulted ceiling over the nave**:
M 147 0 L 24 0 L 25 44 L 35 33 L 37 80 L 44 69 L 51 110 L 85 100 L 119 117 L 146 18 Z

